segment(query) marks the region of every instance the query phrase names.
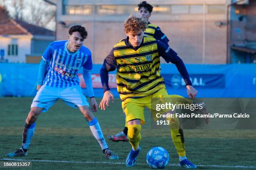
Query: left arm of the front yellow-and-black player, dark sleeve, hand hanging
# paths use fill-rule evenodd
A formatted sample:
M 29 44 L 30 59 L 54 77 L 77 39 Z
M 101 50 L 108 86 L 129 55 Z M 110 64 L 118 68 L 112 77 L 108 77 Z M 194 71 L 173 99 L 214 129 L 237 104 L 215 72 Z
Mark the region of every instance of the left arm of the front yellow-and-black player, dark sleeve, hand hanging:
M 109 85 L 108 85 L 108 72 L 114 71 L 117 67 L 117 63 L 115 60 L 113 49 L 110 51 L 108 56 L 105 58 L 102 68 L 100 69 L 100 80 L 102 83 L 102 87 L 104 90 L 103 98 L 100 102 L 100 109 L 105 110 L 105 105 L 109 107 L 109 102 L 114 102 L 114 95 L 110 91 Z

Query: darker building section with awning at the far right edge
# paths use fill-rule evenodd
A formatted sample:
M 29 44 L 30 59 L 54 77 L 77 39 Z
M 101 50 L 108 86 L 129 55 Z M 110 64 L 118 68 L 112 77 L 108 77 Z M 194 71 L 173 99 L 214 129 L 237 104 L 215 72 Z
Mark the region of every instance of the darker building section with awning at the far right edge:
M 230 5 L 227 56 L 230 63 L 256 63 L 256 0 Z

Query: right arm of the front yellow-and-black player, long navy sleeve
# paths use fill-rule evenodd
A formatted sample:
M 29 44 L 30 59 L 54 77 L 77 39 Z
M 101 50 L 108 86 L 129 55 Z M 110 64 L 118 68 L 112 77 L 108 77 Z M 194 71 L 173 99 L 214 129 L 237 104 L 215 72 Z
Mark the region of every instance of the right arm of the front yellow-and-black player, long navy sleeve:
M 179 73 L 182 75 L 182 78 L 186 83 L 187 95 L 194 99 L 195 96 L 197 95 L 197 90 L 195 90 L 195 88 L 192 86 L 192 82 L 189 79 L 187 68 L 184 65 L 182 59 L 177 55 L 177 53 L 174 50 L 172 50 L 171 47 L 160 41 L 157 41 L 157 47 L 159 49 L 159 54 L 164 58 L 166 62 L 172 62 L 176 65 Z

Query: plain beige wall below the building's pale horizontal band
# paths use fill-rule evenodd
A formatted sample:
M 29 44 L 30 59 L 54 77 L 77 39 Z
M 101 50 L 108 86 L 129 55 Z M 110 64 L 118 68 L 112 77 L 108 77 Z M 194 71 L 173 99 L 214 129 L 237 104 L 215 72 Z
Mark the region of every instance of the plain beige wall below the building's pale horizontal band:
M 222 20 L 222 22 L 225 22 Z M 68 24 L 69 22 L 67 22 Z M 84 45 L 93 54 L 93 62 L 100 64 L 115 43 L 125 37 L 123 22 L 82 22 L 88 38 Z M 157 21 L 169 38 L 172 47 L 185 63 L 203 63 L 203 22 L 202 21 Z M 57 25 L 57 40 L 66 40 L 68 28 Z M 94 41 L 93 41 L 94 40 Z M 205 63 L 226 62 L 226 26 L 218 27 L 215 20 L 205 22 Z

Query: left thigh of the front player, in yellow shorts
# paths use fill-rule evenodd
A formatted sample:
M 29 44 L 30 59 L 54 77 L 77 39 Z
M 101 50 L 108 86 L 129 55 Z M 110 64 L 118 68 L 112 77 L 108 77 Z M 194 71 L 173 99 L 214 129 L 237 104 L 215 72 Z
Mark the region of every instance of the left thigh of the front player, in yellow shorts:
M 128 98 L 122 102 L 123 112 L 125 114 L 125 122 L 140 119 L 141 124 L 145 124 L 143 101 L 140 99 Z

